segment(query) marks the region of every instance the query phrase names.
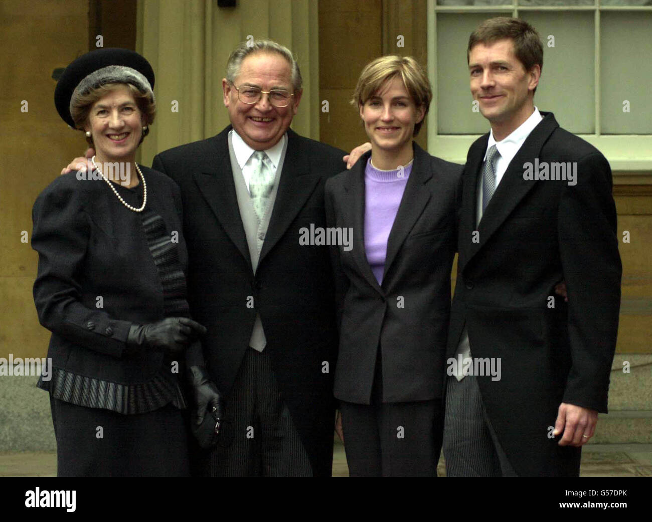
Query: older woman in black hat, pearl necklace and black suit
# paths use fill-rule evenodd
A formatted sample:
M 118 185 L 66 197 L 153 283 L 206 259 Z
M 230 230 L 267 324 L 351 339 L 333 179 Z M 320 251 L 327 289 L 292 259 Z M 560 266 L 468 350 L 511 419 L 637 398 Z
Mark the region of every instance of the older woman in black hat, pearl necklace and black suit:
M 63 120 L 96 151 L 90 174 L 57 177 L 33 209 L 34 299 L 52 331 L 52 379 L 38 386 L 50 392 L 59 476 L 188 474 L 187 356 L 198 411 L 220 414 L 193 355 L 205 328 L 186 301 L 179 188 L 135 162 L 153 85 L 138 53 L 100 49 L 73 61 L 55 90 Z

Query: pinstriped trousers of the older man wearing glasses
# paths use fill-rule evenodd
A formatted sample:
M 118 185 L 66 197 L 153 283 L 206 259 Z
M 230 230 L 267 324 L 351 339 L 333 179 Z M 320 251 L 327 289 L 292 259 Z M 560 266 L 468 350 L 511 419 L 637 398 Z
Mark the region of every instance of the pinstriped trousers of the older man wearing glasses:
M 225 405 L 224 428 L 209 456 L 211 476 L 312 476 L 268 351 L 247 349 Z

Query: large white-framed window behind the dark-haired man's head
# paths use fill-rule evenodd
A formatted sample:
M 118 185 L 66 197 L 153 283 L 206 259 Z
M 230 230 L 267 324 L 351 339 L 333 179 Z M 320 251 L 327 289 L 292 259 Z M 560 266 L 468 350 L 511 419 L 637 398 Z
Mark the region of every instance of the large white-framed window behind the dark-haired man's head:
M 602 151 L 614 170 L 652 170 L 652 0 L 428 0 L 434 106 L 428 148 L 456 162 L 488 123 L 473 111 L 471 31 L 518 16 L 544 45 L 536 106 Z

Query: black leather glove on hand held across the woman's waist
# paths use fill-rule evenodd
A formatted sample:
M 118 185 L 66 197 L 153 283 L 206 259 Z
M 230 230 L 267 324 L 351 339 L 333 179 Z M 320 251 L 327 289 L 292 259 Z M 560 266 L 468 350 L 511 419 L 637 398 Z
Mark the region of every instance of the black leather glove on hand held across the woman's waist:
M 188 317 L 167 317 L 149 325 L 131 325 L 126 343 L 131 351 L 156 348 L 179 353 L 206 331 Z

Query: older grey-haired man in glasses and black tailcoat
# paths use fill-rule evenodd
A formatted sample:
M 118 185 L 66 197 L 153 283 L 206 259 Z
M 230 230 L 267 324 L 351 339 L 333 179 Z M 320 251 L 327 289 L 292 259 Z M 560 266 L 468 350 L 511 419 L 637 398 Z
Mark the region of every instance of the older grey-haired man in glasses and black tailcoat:
M 324 184 L 344 152 L 289 129 L 301 74 L 287 48 L 241 44 L 222 87 L 231 126 L 153 162 L 181 187 L 188 301 L 208 328 L 203 356 L 225 394 L 205 472 L 330 476 L 333 275 L 329 248 L 299 237 L 325 227 Z

